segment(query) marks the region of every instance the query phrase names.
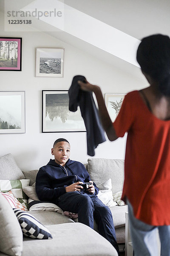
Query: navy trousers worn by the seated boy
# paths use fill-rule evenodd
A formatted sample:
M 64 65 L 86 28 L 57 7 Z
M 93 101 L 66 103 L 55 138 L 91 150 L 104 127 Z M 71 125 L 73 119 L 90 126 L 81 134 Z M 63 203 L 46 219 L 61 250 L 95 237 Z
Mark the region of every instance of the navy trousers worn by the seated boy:
M 67 192 L 58 198 L 57 205 L 63 211 L 78 213 L 79 222 L 92 229 L 95 219 L 99 234 L 110 241 L 119 253 L 111 210 L 96 195 Z

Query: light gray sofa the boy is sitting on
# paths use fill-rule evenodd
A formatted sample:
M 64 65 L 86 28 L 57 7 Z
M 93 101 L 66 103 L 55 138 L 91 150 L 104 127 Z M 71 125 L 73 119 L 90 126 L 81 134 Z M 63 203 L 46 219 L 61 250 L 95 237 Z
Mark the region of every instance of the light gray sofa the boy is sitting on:
M 108 195 L 108 192 L 109 195 L 111 193 L 116 195 L 122 190 L 123 160 L 91 158 L 88 159 L 88 164 L 85 166 L 91 179 L 102 190 L 101 192 L 106 191 L 106 193 L 101 193 L 102 199 L 107 199 L 105 194 Z M 94 223 L 94 230 L 92 230 L 84 224 L 78 223 L 78 219 L 73 220 L 66 217 L 56 205 L 45 206 L 41 202 L 36 202 L 37 195 L 35 194 L 34 182 L 37 172 L 38 170 L 22 172 L 11 154 L 0 157 L 0 180 L 29 180 L 29 186 L 22 189 L 28 195 L 30 205 L 33 204 L 28 213 L 31 213 L 48 228 L 53 239 L 40 240 L 23 236 L 11 206 L 0 195 L 0 256 L 117 256 L 114 247 L 96 232 L 96 223 Z M 112 188 L 105 186 L 109 179 L 111 179 Z M 117 201 L 122 204 L 120 198 Z M 127 206 L 116 205 L 110 208 L 117 241 L 119 244 L 124 244 Z

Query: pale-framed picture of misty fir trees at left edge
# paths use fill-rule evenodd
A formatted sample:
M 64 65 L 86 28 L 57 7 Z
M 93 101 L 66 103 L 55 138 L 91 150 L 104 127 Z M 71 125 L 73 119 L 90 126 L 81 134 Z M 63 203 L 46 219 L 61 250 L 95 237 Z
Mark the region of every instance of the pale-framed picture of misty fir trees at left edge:
M 0 134 L 25 133 L 25 91 L 0 91 Z

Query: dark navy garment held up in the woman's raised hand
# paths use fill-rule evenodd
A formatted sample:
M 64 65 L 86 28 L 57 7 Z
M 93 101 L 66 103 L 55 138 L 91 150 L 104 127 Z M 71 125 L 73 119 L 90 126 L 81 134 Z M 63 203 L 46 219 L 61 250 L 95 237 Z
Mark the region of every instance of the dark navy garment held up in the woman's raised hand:
M 99 118 L 99 111 L 96 108 L 92 92 L 85 92 L 80 89 L 77 81 L 85 81 L 84 76 L 74 76 L 71 87 L 68 90 L 69 95 L 69 110 L 77 111 L 80 107 L 81 115 L 85 123 L 87 131 L 87 148 L 88 155 L 94 156 L 94 149 L 106 141 L 102 124 Z

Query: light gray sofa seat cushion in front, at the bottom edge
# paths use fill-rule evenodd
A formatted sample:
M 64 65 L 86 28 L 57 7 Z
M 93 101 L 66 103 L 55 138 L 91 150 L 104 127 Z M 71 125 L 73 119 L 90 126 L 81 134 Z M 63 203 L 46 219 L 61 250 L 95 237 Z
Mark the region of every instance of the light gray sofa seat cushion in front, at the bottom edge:
M 65 217 L 66 218 L 66 217 Z M 46 226 L 53 239 L 42 241 L 24 237 L 22 256 L 118 256 L 115 248 L 104 237 L 82 223 Z M 36 250 L 36 252 L 35 252 Z

